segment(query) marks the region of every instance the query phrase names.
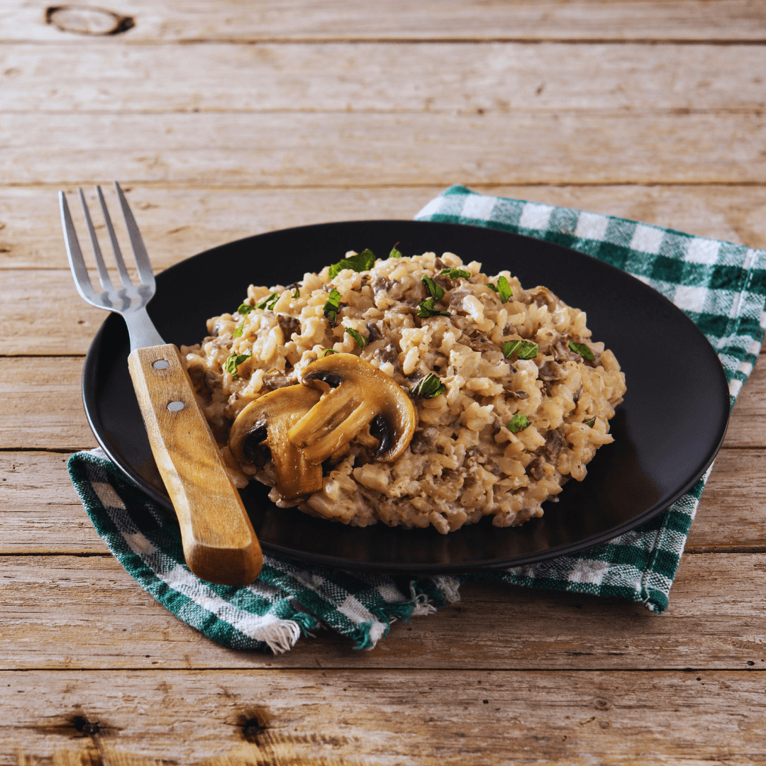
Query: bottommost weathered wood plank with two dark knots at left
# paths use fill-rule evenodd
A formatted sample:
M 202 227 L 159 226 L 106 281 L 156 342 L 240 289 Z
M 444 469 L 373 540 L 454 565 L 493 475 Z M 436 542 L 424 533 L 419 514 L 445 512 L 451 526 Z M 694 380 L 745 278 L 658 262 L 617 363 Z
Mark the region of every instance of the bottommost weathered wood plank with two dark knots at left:
M 762 673 L 745 671 L 67 670 L 0 682 L 8 766 L 764 758 Z M 86 722 L 93 733 L 77 731 Z

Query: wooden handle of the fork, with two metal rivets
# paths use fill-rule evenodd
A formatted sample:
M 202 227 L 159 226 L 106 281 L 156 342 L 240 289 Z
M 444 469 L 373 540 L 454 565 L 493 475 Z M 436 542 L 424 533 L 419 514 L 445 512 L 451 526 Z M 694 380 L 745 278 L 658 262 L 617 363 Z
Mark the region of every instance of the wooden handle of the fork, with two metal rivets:
M 209 582 L 250 584 L 263 565 L 258 538 L 178 349 L 171 344 L 136 349 L 128 367 L 154 459 L 181 525 L 188 567 Z

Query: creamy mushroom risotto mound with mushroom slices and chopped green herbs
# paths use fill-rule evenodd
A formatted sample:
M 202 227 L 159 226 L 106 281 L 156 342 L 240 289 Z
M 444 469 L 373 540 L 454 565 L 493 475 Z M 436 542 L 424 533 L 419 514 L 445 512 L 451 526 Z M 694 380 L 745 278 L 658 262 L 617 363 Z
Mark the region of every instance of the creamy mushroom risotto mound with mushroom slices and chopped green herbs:
M 542 516 L 613 440 L 625 378 L 585 322 L 508 271 L 394 247 L 251 285 L 181 351 L 235 486 L 345 524 L 447 533 Z

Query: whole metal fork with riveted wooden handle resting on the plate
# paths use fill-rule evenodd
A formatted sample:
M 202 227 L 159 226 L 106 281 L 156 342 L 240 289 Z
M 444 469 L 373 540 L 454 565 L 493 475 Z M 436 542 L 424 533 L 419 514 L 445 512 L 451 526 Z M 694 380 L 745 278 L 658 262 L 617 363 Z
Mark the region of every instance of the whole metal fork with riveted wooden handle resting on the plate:
M 155 462 L 178 517 L 188 567 L 209 582 L 250 584 L 263 564 L 260 544 L 228 476 L 178 348 L 165 343 L 146 313 L 146 304 L 155 293 L 152 264 L 123 190 L 117 182 L 114 188 L 136 259 L 139 284 L 133 284 L 129 277 L 106 201 L 97 186 L 121 284 L 113 285 L 80 188 L 102 291 L 97 293 L 90 282 L 67 198 L 60 191 L 61 225 L 77 292 L 91 306 L 120 314 L 128 326 L 130 377 Z

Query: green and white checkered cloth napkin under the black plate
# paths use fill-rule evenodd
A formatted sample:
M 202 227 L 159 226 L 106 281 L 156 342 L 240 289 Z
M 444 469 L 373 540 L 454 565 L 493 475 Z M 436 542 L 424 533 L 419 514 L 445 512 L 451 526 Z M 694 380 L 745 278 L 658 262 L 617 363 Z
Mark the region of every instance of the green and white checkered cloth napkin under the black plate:
M 732 405 L 764 338 L 766 253 L 678 231 L 536 202 L 488 197 L 453 186 L 416 216 L 487 226 L 555 242 L 624 269 L 686 312 L 719 354 Z M 264 557 L 246 588 L 199 580 L 184 563 L 178 527 L 100 450 L 69 460 L 75 489 L 110 551 L 160 604 L 235 649 L 289 649 L 300 634 L 329 627 L 368 649 L 391 620 L 456 601 L 461 582 L 622 597 L 662 612 L 707 474 L 633 532 L 577 555 L 460 577 L 392 578 Z

